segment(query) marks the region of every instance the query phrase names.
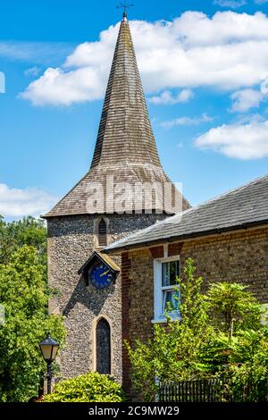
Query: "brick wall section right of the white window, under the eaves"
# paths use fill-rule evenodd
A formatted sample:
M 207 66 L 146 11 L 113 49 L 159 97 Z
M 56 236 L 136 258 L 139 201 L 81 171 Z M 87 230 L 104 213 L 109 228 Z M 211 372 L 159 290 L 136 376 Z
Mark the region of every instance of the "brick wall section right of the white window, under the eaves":
M 197 274 L 211 281 L 243 282 L 261 302 L 268 302 L 268 228 L 185 242 L 181 264 L 191 257 Z

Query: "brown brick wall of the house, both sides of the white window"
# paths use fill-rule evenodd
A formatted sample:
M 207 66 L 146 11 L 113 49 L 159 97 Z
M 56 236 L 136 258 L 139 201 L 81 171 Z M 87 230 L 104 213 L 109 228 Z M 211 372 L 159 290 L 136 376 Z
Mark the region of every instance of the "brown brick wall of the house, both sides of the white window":
M 180 255 L 181 265 L 188 257 L 193 258 L 196 273 L 204 277 L 205 286 L 212 281 L 243 282 L 256 298 L 268 302 L 267 227 L 172 243 L 168 249 L 169 256 Z M 126 300 L 122 302 L 122 323 L 125 323 L 125 338 L 132 343 L 137 339 L 146 341 L 153 333 L 154 256 L 163 256 L 163 249 L 157 246 L 124 255 L 127 270 L 123 262 L 122 290 Z M 124 361 L 126 363 L 125 355 Z M 130 365 L 127 365 L 123 372 L 128 386 L 129 370 Z

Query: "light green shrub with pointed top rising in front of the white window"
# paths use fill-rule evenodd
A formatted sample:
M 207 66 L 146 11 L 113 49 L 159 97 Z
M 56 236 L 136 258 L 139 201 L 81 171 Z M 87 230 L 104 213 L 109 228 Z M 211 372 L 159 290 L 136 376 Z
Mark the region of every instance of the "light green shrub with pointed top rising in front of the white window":
M 204 343 L 211 340 L 213 329 L 208 323 L 205 297 L 200 291 L 202 278 L 194 276 L 192 260 L 184 268 L 185 281 L 178 280 L 183 296 L 181 320 L 173 320 L 167 312 L 167 324 L 154 326 L 154 336 L 147 343 L 140 340 L 134 349 L 126 343 L 132 365 L 132 382 L 146 400 L 154 398 L 157 385 L 204 376 L 201 360 Z

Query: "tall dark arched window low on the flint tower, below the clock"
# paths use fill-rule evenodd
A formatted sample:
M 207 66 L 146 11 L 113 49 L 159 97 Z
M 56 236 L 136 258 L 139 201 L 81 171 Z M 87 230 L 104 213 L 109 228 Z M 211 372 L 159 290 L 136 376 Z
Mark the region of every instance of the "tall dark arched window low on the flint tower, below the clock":
M 111 328 L 105 318 L 96 324 L 96 372 L 111 374 Z

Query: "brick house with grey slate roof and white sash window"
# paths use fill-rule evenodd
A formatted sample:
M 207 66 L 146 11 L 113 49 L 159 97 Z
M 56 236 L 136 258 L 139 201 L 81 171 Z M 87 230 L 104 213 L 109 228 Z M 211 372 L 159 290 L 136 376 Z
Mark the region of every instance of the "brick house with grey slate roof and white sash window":
M 122 336 L 132 343 L 147 340 L 153 323 L 166 322 L 166 302 L 178 305 L 174 276 L 188 257 L 205 285 L 242 282 L 268 303 L 268 175 L 121 239 L 105 253 L 121 254 Z M 129 371 L 123 350 L 127 389 Z

